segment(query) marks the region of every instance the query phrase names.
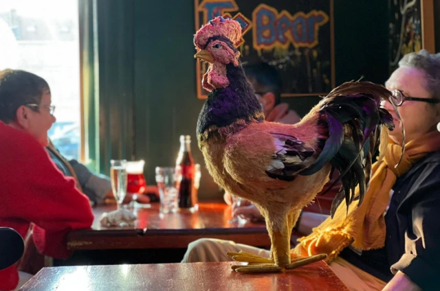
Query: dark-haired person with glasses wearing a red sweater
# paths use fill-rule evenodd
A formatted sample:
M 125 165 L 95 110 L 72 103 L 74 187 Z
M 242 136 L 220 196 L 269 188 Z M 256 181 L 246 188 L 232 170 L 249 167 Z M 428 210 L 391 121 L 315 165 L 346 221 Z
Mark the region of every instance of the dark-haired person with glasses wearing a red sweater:
M 26 237 L 32 224 L 35 246 L 44 255 L 69 257 L 65 237 L 88 229 L 89 200 L 50 160 L 47 130 L 55 122 L 50 87 L 26 71 L 0 72 L 0 226 Z M 0 270 L 0 290 L 19 285 L 17 264 Z

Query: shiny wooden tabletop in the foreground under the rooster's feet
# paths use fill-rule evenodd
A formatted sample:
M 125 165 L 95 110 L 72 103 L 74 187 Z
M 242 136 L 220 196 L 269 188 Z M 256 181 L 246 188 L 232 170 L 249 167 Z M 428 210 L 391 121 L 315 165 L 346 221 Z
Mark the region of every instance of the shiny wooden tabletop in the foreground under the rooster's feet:
M 349 290 L 324 261 L 268 274 L 240 274 L 231 271 L 230 265 L 223 262 L 43 268 L 20 290 Z

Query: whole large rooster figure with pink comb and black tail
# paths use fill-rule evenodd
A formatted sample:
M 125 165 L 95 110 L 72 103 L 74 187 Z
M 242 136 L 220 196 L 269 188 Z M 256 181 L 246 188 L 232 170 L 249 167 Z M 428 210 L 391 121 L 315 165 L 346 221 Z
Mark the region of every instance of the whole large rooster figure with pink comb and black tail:
M 259 208 L 271 238 L 270 259 L 230 253 L 250 263 L 233 269 L 288 270 L 325 258 L 291 261 L 290 235 L 300 209 L 321 191 L 333 169 L 342 173 L 342 187 L 332 213 L 342 200 L 362 202 L 380 125 L 393 130 L 393 117 L 380 108 L 381 98 L 388 100 L 391 93 L 369 82 L 347 82 L 298 124 L 267 122 L 241 67 L 234 45 L 240 38 L 239 23 L 223 17 L 195 34 L 195 57 L 210 64 L 203 75 L 203 88 L 210 93 L 197 123 L 199 148 L 214 181 Z M 357 185 L 360 195 L 354 197 Z

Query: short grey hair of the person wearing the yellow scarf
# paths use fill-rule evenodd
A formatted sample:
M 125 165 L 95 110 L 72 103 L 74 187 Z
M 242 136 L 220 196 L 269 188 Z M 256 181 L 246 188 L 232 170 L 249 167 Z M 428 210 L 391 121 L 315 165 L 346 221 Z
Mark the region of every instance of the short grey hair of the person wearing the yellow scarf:
M 430 54 L 422 49 L 417 53 L 406 54 L 400 61 L 399 67 L 420 69 L 425 73 L 426 84 L 423 87 L 432 94 L 433 98 L 440 99 L 440 53 Z

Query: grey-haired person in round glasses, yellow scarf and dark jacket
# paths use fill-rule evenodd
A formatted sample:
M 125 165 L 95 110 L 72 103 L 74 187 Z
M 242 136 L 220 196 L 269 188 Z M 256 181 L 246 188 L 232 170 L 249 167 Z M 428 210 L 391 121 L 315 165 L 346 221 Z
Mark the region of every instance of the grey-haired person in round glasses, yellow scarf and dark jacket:
M 406 130 L 402 163 L 401 123 L 395 130 L 360 207 L 342 203 L 292 249 L 293 257 L 327 253 L 333 272 L 351 290 L 437 290 L 440 271 L 440 54 L 404 56 L 386 87 Z M 301 220 L 302 221 L 302 220 Z M 307 234 L 307 233 L 305 233 Z M 183 262 L 225 261 L 227 251 L 270 256 L 270 251 L 222 240 L 198 240 Z

